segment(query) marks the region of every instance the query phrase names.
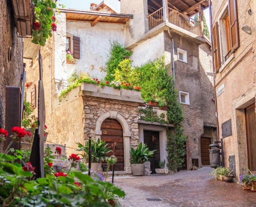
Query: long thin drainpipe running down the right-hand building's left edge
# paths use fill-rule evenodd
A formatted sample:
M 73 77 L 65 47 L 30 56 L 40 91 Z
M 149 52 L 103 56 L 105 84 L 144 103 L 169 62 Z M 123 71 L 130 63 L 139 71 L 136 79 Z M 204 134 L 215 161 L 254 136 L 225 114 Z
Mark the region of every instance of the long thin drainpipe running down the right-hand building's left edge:
M 215 76 L 216 73 L 214 68 L 214 53 L 213 53 L 213 39 L 212 39 L 212 13 L 211 13 L 211 0 L 209 0 L 209 13 L 210 13 L 210 30 L 211 30 L 211 58 L 212 58 L 212 71 L 213 71 L 213 87 L 214 87 L 214 96 L 215 96 L 215 111 L 216 111 L 216 125 L 217 125 L 217 135 L 218 135 L 218 141 L 221 143 L 221 159 L 222 159 L 222 166 L 224 167 L 224 151 L 223 151 L 223 141 L 220 140 L 219 135 L 219 122 L 218 122 L 218 105 L 217 105 L 217 95 L 215 90 Z

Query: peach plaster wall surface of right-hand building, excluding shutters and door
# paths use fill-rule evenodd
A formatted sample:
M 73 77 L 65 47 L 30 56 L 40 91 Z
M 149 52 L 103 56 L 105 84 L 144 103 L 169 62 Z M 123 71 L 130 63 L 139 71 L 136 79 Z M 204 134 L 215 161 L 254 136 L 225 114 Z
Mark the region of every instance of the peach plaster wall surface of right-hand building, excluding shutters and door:
M 224 0 L 212 1 L 213 23 L 218 21 L 226 5 L 227 1 Z M 248 167 L 244 107 L 248 106 L 248 99 L 255 101 L 256 6 L 255 1 L 243 0 L 237 0 L 237 6 L 240 46 L 235 51 L 234 58 L 221 72 L 216 74 L 216 89 L 222 84 L 225 85 L 224 93 L 216 97 L 216 100 L 220 138 L 222 138 L 222 123 L 231 119 L 232 126 L 232 136 L 223 139 L 225 166 L 229 166 L 229 156 L 235 155 L 236 177 L 239 179 L 239 174 Z M 252 15 L 248 14 L 248 9 L 252 9 Z M 243 25 L 252 28 L 252 35 L 242 31 Z

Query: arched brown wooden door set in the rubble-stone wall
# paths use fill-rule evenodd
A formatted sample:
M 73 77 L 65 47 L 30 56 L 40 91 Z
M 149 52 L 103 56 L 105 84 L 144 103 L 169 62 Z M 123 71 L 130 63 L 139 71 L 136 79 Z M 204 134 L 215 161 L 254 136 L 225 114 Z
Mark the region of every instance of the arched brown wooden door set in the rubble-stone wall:
M 111 152 L 107 156 L 114 154 L 114 143 L 116 142 L 116 158 L 115 171 L 123 171 L 124 164 L 124 141 L 123 141 L 123 129 L 121 124 L 115 119 L 106 119 L 101 124 L 101 140 L 108 144 Z M 107 163 L 102 163 L 103 171 L 107 169 Z M 112 170 L 112 166 L 111 166 Z

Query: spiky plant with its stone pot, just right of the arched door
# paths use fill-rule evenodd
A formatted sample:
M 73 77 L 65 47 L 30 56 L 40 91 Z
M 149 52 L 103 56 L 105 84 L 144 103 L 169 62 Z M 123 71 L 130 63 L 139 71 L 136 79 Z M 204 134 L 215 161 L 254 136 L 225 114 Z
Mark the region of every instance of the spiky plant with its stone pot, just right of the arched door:
M 131 147 L 131 171 L 134 176 L 142 176 L 144 174 L 144 163 L 152 157 L 156 150 L 150 151 L 147 144 L 139 143 L 137 149 Z

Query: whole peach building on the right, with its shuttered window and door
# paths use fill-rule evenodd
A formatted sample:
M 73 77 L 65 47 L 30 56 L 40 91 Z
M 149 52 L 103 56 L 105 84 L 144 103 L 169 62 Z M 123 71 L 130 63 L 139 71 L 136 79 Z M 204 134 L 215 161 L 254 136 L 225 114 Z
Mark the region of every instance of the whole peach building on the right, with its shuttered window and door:
M 255 1 L 212 1 L 219 136 L 235 176 L 256 171 Z

